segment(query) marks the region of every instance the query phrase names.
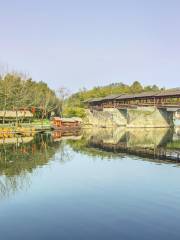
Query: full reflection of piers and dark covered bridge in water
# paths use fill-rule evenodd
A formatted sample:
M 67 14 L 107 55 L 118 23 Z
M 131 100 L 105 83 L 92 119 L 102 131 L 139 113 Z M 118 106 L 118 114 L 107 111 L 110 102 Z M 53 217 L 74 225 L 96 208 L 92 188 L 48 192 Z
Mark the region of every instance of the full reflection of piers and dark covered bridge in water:
M 83 135 L 86 149 L 180 162 L 178 128 L 93 128 L 84 130 Z

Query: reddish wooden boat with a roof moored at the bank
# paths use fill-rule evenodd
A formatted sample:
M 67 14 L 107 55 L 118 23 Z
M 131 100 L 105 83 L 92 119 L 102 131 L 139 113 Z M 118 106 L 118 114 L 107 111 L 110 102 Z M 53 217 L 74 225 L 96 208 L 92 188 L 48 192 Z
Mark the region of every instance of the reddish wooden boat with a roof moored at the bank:
M 81 128 L 81 121 L 77 118 L 53 117 L 52 129 L 62 131 L 76 131 Z

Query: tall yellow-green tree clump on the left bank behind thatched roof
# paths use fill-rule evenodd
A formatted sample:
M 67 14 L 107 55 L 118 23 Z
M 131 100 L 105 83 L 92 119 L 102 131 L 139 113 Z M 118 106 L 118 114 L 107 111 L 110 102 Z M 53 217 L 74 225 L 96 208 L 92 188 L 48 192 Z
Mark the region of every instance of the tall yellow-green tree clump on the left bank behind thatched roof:
M 59 115 L 61 101 L 44 82 L 35 82 L 21 74 L 0 76 L 0 110 L 32 109 L 36 117 Z

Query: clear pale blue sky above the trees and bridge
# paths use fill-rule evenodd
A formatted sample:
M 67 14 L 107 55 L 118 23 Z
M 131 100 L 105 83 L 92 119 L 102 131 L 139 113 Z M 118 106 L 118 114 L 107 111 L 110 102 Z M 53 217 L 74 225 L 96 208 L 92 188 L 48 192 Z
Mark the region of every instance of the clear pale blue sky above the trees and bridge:
M 0 0 L 0 71 L 57 89 L 180 86 L 179 0 Z

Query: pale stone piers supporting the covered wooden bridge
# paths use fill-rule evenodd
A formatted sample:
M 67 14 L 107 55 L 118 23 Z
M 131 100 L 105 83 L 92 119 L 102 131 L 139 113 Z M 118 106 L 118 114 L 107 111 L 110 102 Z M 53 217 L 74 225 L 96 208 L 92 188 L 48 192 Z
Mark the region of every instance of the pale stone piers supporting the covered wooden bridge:
M 137 108 L 104 108 L 101 111 L 86 110 L 85 123 L 97 127 L 172 127 L 174 112 L 166 108 L 137 107 Z

